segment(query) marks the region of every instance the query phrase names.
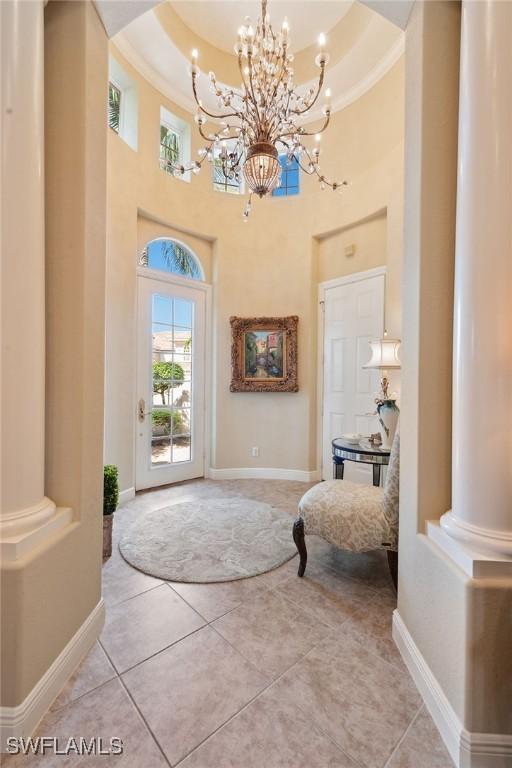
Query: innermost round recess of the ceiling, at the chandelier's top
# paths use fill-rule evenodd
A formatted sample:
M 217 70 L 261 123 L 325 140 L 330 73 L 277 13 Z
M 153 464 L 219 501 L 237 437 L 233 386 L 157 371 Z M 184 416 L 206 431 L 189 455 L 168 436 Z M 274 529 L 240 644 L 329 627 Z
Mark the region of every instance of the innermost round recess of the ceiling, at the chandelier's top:
M 286 16 L 295 53 L 328 33 L 349 11 L 354 0 L 269 0 L 267 10 L 275 30 Z M 237 31 L 244 18 L 256 24 L 259 0 L 172 0 L 176 13 L 199 37 L 216 48 L 233 53 Z

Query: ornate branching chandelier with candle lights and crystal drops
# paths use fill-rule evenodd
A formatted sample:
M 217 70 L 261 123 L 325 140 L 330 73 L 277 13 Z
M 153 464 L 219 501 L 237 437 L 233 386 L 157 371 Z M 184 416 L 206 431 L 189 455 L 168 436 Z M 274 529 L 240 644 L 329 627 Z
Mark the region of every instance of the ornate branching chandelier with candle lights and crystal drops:
M 325 91 L 322 126 L 309 132 L 302 124 L 322 92 L 329 61 L 325 44 L 325 35 L 321 34 L 315 59 L 320 69 L 318 81 L 314 87 L 300 93 L 293 82 L 288 21 L 283 21 L 280 32 L 274 32 L 267 12 L 267 0 L 262 0 L 256 29 L 246 17 L 234 46 L 242 79 L 240 88 L 221 86 L 215 74 L 209 74 L 210 89 L 219 107 L 217 113 L 207 110 L 198 96 L 200 70 L 198 52 L 193 50 L 190 73 L 197 103 L 195 122 L 206 145 L 199 150 L 200 160 L 189 167 L 177 166 L 175 174 L 183 175 L 187 171 L 199 173 L 205 160 L 213 163 L 217 159 L 226 179 L 240 183 L 243 175 L 250 190 L 244 220 L 249 216 L 253 194 L 264 197 L 279 186 L 280 154 L 286 154 L 289 163 L 295 160 L 309 176 L 316 176 L 322 189 L 341 190 L 347 182 L 326 178 L 319 165 L 318 139 L 331 117 L 329 89 Z M 206 130 L 209 119 L 220 124 L 219 130 L 213 133 Z M 303 143 L 305 138 L 311 136 L 317 138 L 312 149 Z

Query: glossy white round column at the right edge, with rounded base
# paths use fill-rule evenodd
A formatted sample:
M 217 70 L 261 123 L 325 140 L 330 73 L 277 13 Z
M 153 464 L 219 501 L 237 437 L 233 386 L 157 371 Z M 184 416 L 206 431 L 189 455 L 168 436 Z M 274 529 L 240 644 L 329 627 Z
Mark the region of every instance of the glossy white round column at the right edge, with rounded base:
M 512 3 L 462 4 L 452 510 L 441 526 L 512 559 Z M 434 478 L 435 481 L 435 478 Z

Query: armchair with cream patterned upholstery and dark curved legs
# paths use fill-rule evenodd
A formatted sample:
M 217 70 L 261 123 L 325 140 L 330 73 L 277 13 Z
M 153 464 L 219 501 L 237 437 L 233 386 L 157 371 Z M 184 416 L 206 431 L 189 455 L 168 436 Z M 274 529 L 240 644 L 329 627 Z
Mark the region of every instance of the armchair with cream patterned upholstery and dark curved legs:
M 393 584 L 398 573 L 398 496 L 400 436 L 391 448 L 384 488 L 326 480 L 314 485 L 299 502 L 293 540 L 300 555 L 298 575 L 306 570 L 305 535 L 316 534 L 339 549 L 368 552 L 386 549 Z

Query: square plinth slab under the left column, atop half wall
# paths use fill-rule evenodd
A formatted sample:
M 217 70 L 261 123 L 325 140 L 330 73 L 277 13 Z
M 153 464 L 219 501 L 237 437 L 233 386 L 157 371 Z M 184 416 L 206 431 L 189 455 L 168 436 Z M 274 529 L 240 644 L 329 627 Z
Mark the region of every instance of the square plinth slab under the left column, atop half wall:
M 6 521 L 7 525 L 0 527 L 0 559 L 3 563 L 12 563 L 25 557 L 32 549 L 40 546 L 50 536 L 54 536 L 65 526 L 73 521 L 73 511 L 69 507 L 56 507 L 50 499 L 46 499 L 48 505 L 41 510 L 42 514 L 29 515 L 24 514 L 19 517 L 23 524 L 19 526 L 21 531 L 14 525 L 9 526 L 11 521 Z M 29 527 L 28 523 L 31 523 Z M 10 528 L 10 530 L 9 530 Z

